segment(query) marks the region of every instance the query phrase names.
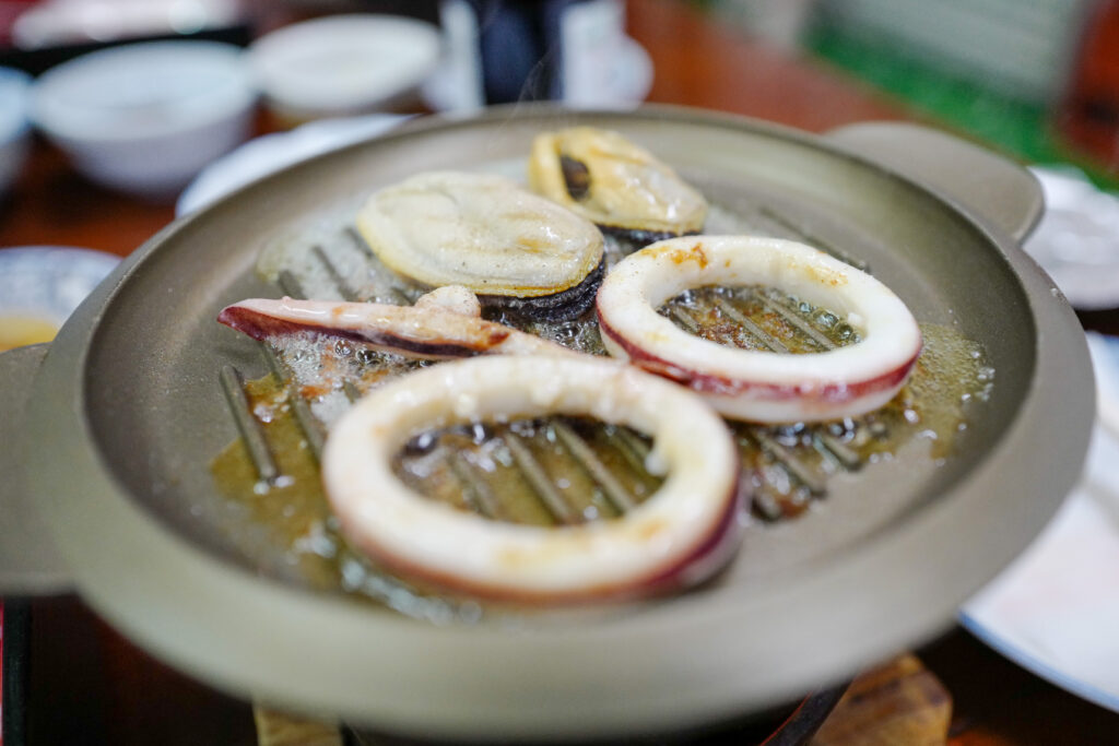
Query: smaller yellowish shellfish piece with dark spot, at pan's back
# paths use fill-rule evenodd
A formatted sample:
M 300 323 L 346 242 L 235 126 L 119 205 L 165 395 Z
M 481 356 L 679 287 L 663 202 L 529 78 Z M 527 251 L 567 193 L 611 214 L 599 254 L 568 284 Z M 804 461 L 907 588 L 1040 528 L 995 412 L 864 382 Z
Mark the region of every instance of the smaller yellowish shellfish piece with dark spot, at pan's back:
M 605 230 L 648 244 L 703 230 L 707 201 L 617 132 L 573 128 L 533 142 L 532 188 Z

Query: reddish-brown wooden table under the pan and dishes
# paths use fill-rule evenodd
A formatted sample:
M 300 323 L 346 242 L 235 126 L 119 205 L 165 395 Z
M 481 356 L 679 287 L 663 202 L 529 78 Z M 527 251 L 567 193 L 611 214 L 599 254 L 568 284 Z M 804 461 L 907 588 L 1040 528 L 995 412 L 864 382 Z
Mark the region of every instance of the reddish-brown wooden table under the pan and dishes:
M 713 23 L 677 0 L 631 0 L 629 19 L 631 35 L 656 66 L 650 101 L 812 132 L 866 120 L 920 119 L 857 81 Z M 260 129 L 272 129 L 265 115 Z M 22 178 L 0 205 L 0 246 L 75 245 L 124 256 L 172 218 L 169 205 L 91 185 L 58 151 L 37 141 Z M 1119 331 L 1119 313 L 1081 318 Z M 152 661 L 76 598 L 34 602 L 32 615 L 36 743 L 255 743 L 245 702 Z M 959 629 L 916 653 L 951 696 L 953 746 L 1119 743 L 1119 715 L 1032 676 Z M 877 723 L 890 717 L 884 710 Z M 875 743 L 874 733 L 868 725 L 863 743 Z

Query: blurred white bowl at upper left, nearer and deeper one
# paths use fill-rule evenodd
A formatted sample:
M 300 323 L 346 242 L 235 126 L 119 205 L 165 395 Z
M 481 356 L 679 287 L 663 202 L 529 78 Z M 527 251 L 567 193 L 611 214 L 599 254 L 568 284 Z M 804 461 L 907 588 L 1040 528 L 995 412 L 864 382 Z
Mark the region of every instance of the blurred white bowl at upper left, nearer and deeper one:
M 32 87 L 31 116 L 91 180 L 169 199 L 248 136 L 255 101 L 239 48 L 154 41 L 47 70 Z

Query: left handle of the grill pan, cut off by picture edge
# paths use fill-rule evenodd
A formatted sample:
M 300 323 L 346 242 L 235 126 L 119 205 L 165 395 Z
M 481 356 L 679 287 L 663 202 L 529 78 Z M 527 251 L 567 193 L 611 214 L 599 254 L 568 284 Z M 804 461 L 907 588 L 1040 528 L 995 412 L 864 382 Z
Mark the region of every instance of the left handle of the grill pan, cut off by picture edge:
M 0 355 L 0 595 L 6 596 L 62 593 L 72 585 L 23 487 L 23 413 L 49 347 L 32 344 Z

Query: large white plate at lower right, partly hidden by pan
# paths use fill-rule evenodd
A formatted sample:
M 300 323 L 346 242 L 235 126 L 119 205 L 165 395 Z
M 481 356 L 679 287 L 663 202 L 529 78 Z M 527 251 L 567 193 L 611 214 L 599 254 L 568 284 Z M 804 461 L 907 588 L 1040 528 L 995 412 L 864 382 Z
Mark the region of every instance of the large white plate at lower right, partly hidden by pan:
M 1089 334 L 1099 413 L 1084 474 L 960 622 L 1023 668 L 1119 712 L 1119 338 Z

